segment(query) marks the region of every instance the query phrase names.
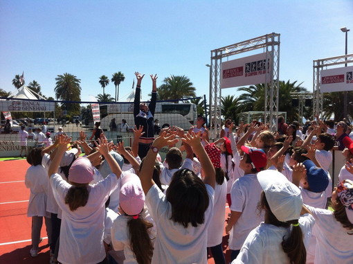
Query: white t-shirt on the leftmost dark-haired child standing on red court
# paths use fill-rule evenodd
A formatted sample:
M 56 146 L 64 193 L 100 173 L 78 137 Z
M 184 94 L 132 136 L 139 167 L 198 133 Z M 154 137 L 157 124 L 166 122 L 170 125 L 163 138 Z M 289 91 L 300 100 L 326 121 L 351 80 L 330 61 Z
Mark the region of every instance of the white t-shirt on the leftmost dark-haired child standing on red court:
M 39 164 L 30 166 L 26 172 L 24 183 L 30 188 L 30 198 L 28 202 L 27 216 L 46 216 L 50 214 L 46 211 L 46 190 L 48 188 L 48 173 Z

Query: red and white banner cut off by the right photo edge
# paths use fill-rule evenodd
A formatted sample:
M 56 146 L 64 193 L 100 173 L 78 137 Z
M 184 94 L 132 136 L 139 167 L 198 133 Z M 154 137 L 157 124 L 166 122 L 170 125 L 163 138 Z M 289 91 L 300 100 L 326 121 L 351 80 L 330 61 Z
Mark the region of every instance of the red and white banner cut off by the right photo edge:
M 320 91 L 353 90 L 353 66 L 322 70 L 320 72 Z

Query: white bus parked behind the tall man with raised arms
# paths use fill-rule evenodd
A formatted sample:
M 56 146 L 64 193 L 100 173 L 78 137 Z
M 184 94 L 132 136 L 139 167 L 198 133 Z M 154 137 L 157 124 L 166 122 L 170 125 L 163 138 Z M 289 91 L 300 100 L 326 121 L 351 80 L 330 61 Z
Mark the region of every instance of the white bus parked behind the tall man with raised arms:
M 108 115 L 100 121 L 100 127 L 103 130 L 109 131 L 109 124 L 113 118 L 116 118 L 118 126 L 121 120 L 125 119 L 129 127 L 134 127 L 134 103 L 109 104 L 107 105 L 107 112 Z M 184 130 L 188 130 L 196 124 L 197 108 L 193 103 L 157 102 L 154 112 L 154 120 L 156 119 L 159 120 L 161 128 L 165 125 L 177 125 Z

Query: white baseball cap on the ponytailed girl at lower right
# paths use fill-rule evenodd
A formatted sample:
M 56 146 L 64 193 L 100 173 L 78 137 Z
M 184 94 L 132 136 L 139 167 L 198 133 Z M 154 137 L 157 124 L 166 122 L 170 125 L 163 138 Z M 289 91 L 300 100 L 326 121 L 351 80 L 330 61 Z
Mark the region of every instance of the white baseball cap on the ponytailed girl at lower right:
M 275 217 L 281 222 L 297 220 L 302 211 L 300 189 L 277 170 L 262 170 L 257 173 L 266 200 Z

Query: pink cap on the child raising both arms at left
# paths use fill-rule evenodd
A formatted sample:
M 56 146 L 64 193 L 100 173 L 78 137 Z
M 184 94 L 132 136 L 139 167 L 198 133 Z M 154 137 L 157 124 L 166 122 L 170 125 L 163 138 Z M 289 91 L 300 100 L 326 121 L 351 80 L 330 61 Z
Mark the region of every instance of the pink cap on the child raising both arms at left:
M 77 184 L 88 184 L 93 180 L 93 174 L 91 161 L 85 157 L 80 157 L 73 161 L 69 170 L 69 180 Z

